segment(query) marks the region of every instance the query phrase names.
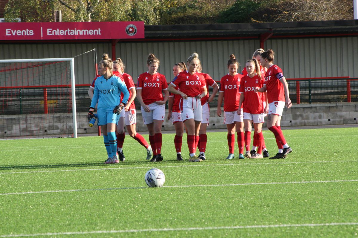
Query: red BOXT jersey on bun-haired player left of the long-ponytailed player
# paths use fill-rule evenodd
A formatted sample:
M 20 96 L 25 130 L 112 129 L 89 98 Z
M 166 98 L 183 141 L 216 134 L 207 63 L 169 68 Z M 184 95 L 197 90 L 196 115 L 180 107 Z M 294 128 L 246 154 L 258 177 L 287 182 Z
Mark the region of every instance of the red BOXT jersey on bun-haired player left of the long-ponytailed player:
M 241 74 L 231 76 L 225 75 L 220 80 L 219 91 L 224 93 L 224 111 L 233 112 L 239 108 L 240 101 L 240 80 L 243 77 Z

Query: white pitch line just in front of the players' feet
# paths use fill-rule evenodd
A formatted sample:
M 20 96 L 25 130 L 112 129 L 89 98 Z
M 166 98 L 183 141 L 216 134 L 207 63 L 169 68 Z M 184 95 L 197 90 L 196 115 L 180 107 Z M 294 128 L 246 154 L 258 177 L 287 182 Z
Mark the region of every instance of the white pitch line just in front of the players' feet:
M 196 167 L 196 166 L 244 166 L 244 165 L 265 165 L 265 164 L 301 164 L 301 163 L 331 163 L 331 162 L 358 162 L 358 160 L 330 160 L 330 161 L 296 161 L 296 162 L 265 162 L 265 163 L 240 163 L 240 164 L 194 164 L 194 165 L 173 165 L 173 166 L 158 166 L 157 168 L 170 168 L 170 167 Z M 66 165 L 66 164 L 64 164 Z M 43 170 L 43 171 L 22 171 L 22 172 L 5 172 L 1 174 L 13 174 L 13 173 L 52 173 L 52 172 L 70 172 L 70 171 L 91 171 L 91 170 L 109 170 L 109 169 L 142 169 L 142 168 L 153 168 L 153 166 L 144 167 L 117 167 L 117 168 L 88 168 L 88 169 L 61 169 L 61 170 Z

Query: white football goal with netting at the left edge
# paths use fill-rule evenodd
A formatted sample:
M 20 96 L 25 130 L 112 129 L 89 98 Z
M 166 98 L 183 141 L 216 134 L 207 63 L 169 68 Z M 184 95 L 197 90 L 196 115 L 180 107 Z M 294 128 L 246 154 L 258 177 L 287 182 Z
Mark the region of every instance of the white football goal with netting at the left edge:
M 51 69 L 53 65 L 55 64 L 61 64 L 62 62 L 65 62 L 66 65 L 62 66 L 62 69 Z M 68 64 L 69 64 L 69 72 L 68 72 Z M 58 75 L 60 74 L 60 75 Z M 58 83 L 58 77 L 64 77 L 66 79 L 61 80 L 60 83 Z M 69 87 L 69 80 L 68 77 L 71 78 L 71 92 L 68 94 L 71 94 L 72 100 L 71 102 L 66 103 L 66 107 L 69 110 L 70 107 L 72 107 L 72 127 L 73 127 L 73 138 L 77 138 L 77 119 L 76 119 L 76 90 L 75 90 L 75 76 L 74 76 L 74 58 L 47 58 L 47 59 L 14 59 L 14 60 L 0 60 L 0 92 L 6 91 L 6 90 L 16 90 L 20 91 L 20 100 L 19 105 L 21 108 L 21 88 L 43 88 L 44 94 L 45 90 L 47 88 L 55 88 L 56 84 L 61 84 L 61 87 Z M 52 80 L 52 81 L 45 81 L 45 80 Z M 15 82 L 12 82 L 15 80 Z M 12 92 L 11 92 L 12 93 Z M 58 92 L 57 92 L 58 93 Z M 53 93 L 53 94 L 56 94 Z M 9 96 L 1 94 L 2 101 L 4 104 L 4 101 L 8 100 Z M 54 97 L 56 97 L 55 95 Z M 10 99 L 11 100 L 11 99 Z M 32 99 L 30 98 L 29 101 Z M 33 100 L 34 101 L 34 100 Z M 56 101 L 57 100 L 52 100 Z M 8 101 L 6 101 L 8 103 Z M 34 102 L 35 103 L 35 102 Z M 43 105 L 47 106 L 48 101 L 42 100 L 41 103 Z M 68 106 L 69 104 L 72 104 Z M 10 103 L 8 103 L 10 104 Z M 61 101 L 58 103 L 61 104 Z M 8 106 L 8 105 L 6 105 Z M 32 107 L 38 107 L 39 103 L 37 105 L 33 105 Z M 59 105 L 62 106 L 62 105 Z M 1 107 L 1 102 L 0 102 Z M 4 108 L 4 105 L 3 105 Z M 21 111 L 21 110 L 20 110 Z M 4 112 L 4 109 L 3 109 Z M 65 109 L 65 112 L 66 109 Z M 44 113 L 44 112 L 43 112 Z M 47 112 L 45 112 L 47 113 Z M 53 113 L 57 113 L 61 117 L 61 114 L 59 111 L 55 111 Z M 5 113 L 6 114 L 6 113 Z M 10 113 L 11 114 L 11 113 Z M 20 112 L 22 114 L 22 111 Z M 39 113 L 35 113 L 39 114 Z M 3 113 L 4 115 L 4 113 Z M 26 115 L 27 116 L 27 115 Z M 69 115 L 68 115 L 69 116 Z M 4 123 L 7 123 L 6 120 L 11 120 L 11 118 L 0 118 Z M 26 118 L 25 118 L 26 119 Z M 40 119 L 39 119 L 40 120 Z M 11 122 L 11 121 L 10 121 Z M 1 126 L 1 125 L 0 125 Z M 3 126 L 4 128 L 6 126 Z M 8 128 L 8 130 L 11 130 Z M 21 125 L 19 126 L 19 130 L 21 130 Z M 1 131 L 1 130 L 0 130 Z M 47 130 L 45 130 L 47 131 Z M 6 133 L 6 132 L 5 132 Z M 64 133 L 66 134 L 66 133 Z M 26 134 L 29 135 L 29 134 Z

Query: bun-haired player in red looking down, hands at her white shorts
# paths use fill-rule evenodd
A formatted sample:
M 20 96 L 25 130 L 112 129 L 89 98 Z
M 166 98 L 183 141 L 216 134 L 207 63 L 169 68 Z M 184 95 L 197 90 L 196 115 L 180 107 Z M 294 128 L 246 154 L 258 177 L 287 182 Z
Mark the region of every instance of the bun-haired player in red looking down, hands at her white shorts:
M 141 104 L 144 124 L 149 131 L 149 143 L 153 150 L 153 158 L 150 161 L 156 162 L 163 160 L 161 126 L 164 121 L 165 102 L 168 100 L 169 92 L 165 76 L 157 72 L 159 60 L 154 54 L 149 54 L 147 66 L 148 71 L 138 77 L 137 97 Z

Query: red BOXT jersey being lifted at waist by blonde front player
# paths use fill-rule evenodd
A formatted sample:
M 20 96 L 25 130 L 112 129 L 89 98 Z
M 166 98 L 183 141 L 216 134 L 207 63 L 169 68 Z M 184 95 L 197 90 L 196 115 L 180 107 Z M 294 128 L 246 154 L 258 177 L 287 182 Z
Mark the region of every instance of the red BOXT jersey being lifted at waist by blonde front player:
M 196 97 L 201 94 L 202 88 L 206 86 L 204 76 L 200 73 L 195 72 L 193 75 L 189 74 L 188 71 L 180 72 L 171 81 L 174 87 L 178 86 L 180 91 L 188 95 L 188 97 Z

